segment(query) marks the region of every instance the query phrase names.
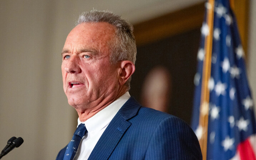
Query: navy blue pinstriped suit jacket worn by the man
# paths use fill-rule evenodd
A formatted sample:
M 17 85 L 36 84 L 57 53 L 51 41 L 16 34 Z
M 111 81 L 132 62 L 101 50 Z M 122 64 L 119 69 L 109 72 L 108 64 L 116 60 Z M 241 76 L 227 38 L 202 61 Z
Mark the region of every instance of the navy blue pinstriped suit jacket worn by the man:
M 63 160 L 66 147 L 56 160 Z M 183 120 L 130 98 L 103 132 L 89 160 L 201 160 L 194 132 Z

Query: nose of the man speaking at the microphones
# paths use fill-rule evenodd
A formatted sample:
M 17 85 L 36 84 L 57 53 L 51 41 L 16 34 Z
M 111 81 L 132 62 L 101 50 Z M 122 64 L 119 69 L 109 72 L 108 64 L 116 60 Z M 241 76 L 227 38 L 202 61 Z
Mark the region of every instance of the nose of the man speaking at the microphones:
M 67 73 L 80 73 L 81 68 L 79 66 L 79 58 L 72 56 L 69 59 L 63 61 L 65 63 L 64 70 Z

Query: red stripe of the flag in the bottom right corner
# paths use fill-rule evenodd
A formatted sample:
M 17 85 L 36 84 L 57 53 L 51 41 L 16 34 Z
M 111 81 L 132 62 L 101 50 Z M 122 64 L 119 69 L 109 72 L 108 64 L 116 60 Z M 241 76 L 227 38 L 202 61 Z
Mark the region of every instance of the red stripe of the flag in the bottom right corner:
M 253 152 L 249 139 L 241 142 L 238 145 L 237 150 L 240 154 L 241 160 L 256 160 L 255 153 Z

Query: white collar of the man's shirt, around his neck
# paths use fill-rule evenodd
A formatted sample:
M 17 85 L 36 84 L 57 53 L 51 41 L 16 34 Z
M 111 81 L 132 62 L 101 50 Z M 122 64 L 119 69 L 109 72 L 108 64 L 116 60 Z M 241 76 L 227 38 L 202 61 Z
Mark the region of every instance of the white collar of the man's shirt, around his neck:
M 100 112 L 96 113 L 94 116 L 89 118 L 88 120 L 81 122 L 78 118 L 78 125 L 80 123 L 84 123 L 88 132 L 97 132 L 106 127 L 116 113 L 120 110 L 120 108 L 125 104 L 125 102 L 130 98 L 130 94 L 127 91 L 125 94 L 117 98 L 110 105 L 105 107 Z M 77 125 L 77 126 L 78 126 Z

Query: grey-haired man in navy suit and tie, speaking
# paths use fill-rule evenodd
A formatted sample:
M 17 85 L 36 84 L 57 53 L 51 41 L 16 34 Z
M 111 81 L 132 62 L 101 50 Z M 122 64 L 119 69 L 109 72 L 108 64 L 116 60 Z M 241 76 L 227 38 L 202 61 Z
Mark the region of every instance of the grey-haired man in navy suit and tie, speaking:
M 130 97 L 136 57 L 132 31 L 120 16 L 90 11 L 68 34 L 63 88 L 78 113 L 78 129 L 56 160 L 202 159 L 197 137 L 184 121 Z

